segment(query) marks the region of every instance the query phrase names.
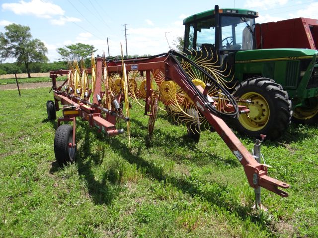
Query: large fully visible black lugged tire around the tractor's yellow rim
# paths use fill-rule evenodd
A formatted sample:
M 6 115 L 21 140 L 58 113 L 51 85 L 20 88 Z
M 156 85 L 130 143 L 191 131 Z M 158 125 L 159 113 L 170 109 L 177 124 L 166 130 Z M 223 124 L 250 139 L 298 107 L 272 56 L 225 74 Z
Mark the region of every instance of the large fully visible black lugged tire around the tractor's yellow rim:
M 272 79 L 254 77 L 241 82 L 235 88 L 234 96 L 241 98 L 242 95 L 252 92 L 260 95 L 266 101 L 269 109 L 268 119 L 260 125 L 260 129 L 257 129 L 256 126 L 253 130 L 244 127 L 239 119 L 234 119 L 235 127 L 239 133 L 255 138 L 260 138 L 260 134 L 265 134 L 268 139 L 278 139 L 291 122 L 291 101 L 288 100 L 287 92 Z M 239 115 L 239 117 L 247 117 L 247 115 Z M 252 121 L 252 119 L 250 120 Z

